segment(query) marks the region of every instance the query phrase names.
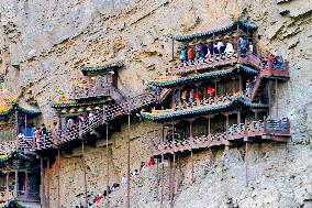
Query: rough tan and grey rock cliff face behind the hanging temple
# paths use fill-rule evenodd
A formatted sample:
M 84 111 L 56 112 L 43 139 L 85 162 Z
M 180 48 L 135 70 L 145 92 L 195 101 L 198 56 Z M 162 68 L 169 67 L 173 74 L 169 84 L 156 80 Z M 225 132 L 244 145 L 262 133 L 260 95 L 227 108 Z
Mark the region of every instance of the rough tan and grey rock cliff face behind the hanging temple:
M 175 206 L 311 206 L 310 0 L 2 0 L 0 4 L 1 69 L 5 74 L 8 85 L 21 98 L 31 102 L 37 101 L 47 123 L 52 122 L 54 117 L 49 101 L 68 96 L 75 81 L 82 77 L 79 70 L 81 64 L 124 59 L 125 67 L 119 74 L 119 88 L 125 95 L 135 95 L 145 88 L 145 81 L 157 77 L 169 66 L 172 56 L 171 41 L 165 35 L 182 34 L 196 29 L 197 18 L 204 22 L 233 13 L 250 17 L 259 25 L 256 35 L 258 50 L 264 54 L 282 55 L 290 61 L 291 79 L 279 84 L 278 108 L 279 117 L 290 118 L 292 142 L 287 145 L 249 146 L 248 187 L 245 185 L 244 149 L 222 150 L 210 155 L 198 154 L 196 183 L 192 186 L 188 178 L 189 158 L 181 158 L 183 180 Z M 275 107 L 276 103 L 271 108 L 272 114 L 276 114 Z M 148 158 L 148 142 L 159 135 L 159 131 L 156 131 L 159 127 L 142 122 L 132 128 L 134 169 L 140 166 L 142 160 Z M 113 160 L 110 174 L 114 180 L 125 172 L 125 128 L 112 135 L 110 158 Z M 101 169 L 100 166 L 104 166 L 105 156 L 100 156 L 100 153 L 94 156 L 93 151 L 102 151 L 93 149 L 90 147 L 90 154 L 88 153 L 88 182 L 90 190 L 98 193 L 105 186 L 98 179 L 98 175 L 104 174 L 104 168 Z M 77 167 L 79 158 L 64 160 L 62 205 L 71 207 L 70 205 L 78 204 L 79 197 L 82 196 L 82 175 Z M 93 164 L 99 166 L 93 168 Z M 75 178 L 76 172 L 79 178 Z M 157 189 L 151 190 L 151 183 L 155 179 L 154 173 L 156 169 L 144 169 L 138 182 L 133 184 L 134 206 L 159 206 L 156 201 Z M 53 188 L 56 187 L 55 175 L 51 180 Z M 56 190 L 53 188 L 51 200 L 55 205 Z M 112 196 L 115 206 L 122 206 L 125 201 L 123 191 Z

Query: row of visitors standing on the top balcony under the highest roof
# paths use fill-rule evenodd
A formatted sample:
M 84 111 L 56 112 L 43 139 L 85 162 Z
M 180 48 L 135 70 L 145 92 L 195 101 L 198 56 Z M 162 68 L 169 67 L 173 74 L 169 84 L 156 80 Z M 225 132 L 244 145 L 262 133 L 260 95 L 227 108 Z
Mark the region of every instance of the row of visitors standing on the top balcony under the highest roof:
M 254 53 L 253 42 L 248 42 L 246 39 L 239 37 L 238 48 L 239 56 L 246 56 L 247 53 Z M 212 56 L 234 54 L 233 43 L 231 41 L 219 41 L 216 43 L 198 43 L 194 46 L 182 46 L 180 51 L 180 61 L 186 63 L 188 61 L 194 61 L 200 58 L 210 58 Z

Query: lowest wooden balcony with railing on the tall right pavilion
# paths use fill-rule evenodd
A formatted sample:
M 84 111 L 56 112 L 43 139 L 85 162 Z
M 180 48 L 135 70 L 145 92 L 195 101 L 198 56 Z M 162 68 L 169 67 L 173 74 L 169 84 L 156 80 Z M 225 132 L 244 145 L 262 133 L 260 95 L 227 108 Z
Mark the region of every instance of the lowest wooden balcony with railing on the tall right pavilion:
M 178 152 L 189 152 L 191 150 L 205 150 L 233 145 L 235 142 L 246 141 L 275 141 L 288 142 L 290 138 L 290 124 L 288 119 L 258 120 L 246 124 L 239 123 L 229 128 L 227 132 L 201 135 L 187 139 L 175 139 L 172 141 L 154 144 L 152 154 L 174 154 Z M 234 142 L 234 143 L 233 143 Z

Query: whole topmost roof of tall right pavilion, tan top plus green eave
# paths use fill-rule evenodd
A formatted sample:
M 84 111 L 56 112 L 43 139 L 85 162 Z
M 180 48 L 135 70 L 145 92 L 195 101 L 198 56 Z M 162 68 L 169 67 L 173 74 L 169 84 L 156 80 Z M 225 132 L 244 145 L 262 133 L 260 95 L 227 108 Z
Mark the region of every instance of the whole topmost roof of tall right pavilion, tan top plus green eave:
M 199 31 L 203 31 L 203 32 L 192 33 L 189 35 L 169 35 L 169 37 L 178 42 L 192 41 L 199 37 L 209 37 L 209 36 L 218 35 L 218 34 L 224 34 L 233 30 L 236 30 L 237 26 L 241 29 L 246 29 L 246 30 L 252 30 L 252 31 L 255 31 L 258 29 L 256 23 L 250 22 L 247 19 L 233 20 L 231 18 L 224 18 L 224 19 L 220 19 L 219 21 L 214 21 L 214 22 L 212 21 L 205 22 L 203 26 L 198 29 Z

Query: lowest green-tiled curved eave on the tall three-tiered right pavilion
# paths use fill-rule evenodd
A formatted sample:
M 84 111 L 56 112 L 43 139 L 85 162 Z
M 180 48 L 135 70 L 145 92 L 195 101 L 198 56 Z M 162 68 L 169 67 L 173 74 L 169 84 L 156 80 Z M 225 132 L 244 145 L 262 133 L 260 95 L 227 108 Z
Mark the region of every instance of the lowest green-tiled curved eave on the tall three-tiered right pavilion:
M 243 107 L 250 108 L 250 109 L 267 109 L 268 108 L 267 105 L 247 102 L 247 101 L 244 101 L 242 97 L 237 97 L 224 106 L 197 108 L 192 110 L 175 111 L 171 113 L 164 113 L 164 114 L 141 112 L 141 116 L 152 121 L 170 121 L 170 120 L 176 120 L 176 119 L 187 119 L 187 118 L 192 118 L 192 117 L 199 117 L 199 116 L 209 114 L 209 113 L 224 112 L 224 111 L 234 109 L 236 105 L 242 105 Z

